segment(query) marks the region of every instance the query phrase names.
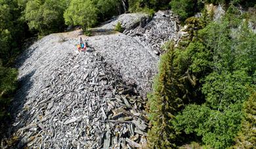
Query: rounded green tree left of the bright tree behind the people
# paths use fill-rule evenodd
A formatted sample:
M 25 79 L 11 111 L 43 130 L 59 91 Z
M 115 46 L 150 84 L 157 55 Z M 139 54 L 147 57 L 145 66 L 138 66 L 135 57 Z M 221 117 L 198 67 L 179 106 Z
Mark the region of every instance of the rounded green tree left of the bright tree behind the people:
M 24 13 L 30 30 L 47 35 L 64 27 L 65 3 L 60 0 L 29 0 Z

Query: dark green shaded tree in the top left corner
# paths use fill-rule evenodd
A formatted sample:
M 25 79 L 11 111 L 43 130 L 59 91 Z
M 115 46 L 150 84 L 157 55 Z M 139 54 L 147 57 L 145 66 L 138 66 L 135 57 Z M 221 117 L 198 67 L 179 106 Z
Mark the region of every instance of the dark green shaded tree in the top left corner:
M 3 66 L 20 51 L 20 44 L 26 36 L 26 24 L 20 19 L 21 11 L 17 1 L 0 0 L 0 58 Z

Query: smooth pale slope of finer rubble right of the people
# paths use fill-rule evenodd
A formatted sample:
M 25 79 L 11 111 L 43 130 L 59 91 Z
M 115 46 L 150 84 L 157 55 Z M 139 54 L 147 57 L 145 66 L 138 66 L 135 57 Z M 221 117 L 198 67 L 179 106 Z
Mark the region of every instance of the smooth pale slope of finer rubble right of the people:
M 121 73 L 125 82 L 136 84 L 140 95 L 146 97 L 151 91 L 152 77 L 157 72 L 156 54 L 123 33 L 89 37 L 88 43 Z

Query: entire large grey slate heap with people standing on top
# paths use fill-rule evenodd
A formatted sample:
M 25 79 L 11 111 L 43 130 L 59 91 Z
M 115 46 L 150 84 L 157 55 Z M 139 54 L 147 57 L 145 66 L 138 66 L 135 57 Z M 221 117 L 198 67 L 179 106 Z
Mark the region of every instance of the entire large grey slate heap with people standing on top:
M 87 37 L 91 52 L 78 53 L 77 42 L 52 34 L 20 56 L 9 130 L 18 137 L 16 147 L 143 148 L 145 98 L 158 56 L 123 33 Z

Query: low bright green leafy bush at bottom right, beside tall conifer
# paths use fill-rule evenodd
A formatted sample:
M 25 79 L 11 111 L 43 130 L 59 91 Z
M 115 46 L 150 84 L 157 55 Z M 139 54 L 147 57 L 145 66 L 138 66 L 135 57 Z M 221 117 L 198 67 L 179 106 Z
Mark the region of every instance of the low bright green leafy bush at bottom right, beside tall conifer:
M 225 148 L 230 145 L 236 133 L 240 129 L 242 113 L 239 105 L 232 105 L 230 109 L 211 110 L 211 108 L 199 105 L 188 105 L 182 114 L 176 116 L 173 125 L 177 131 L 196 133 L 202 136 L 203 142 L 213 148 Z

